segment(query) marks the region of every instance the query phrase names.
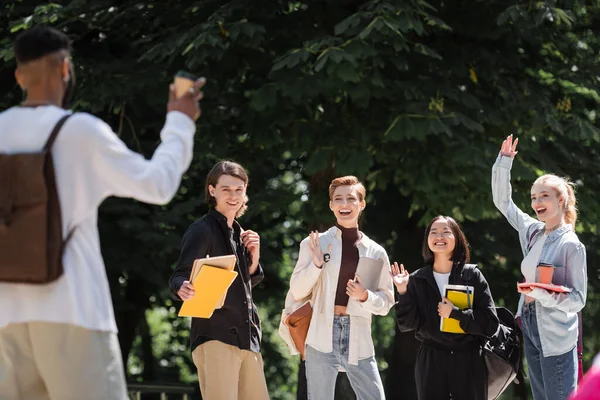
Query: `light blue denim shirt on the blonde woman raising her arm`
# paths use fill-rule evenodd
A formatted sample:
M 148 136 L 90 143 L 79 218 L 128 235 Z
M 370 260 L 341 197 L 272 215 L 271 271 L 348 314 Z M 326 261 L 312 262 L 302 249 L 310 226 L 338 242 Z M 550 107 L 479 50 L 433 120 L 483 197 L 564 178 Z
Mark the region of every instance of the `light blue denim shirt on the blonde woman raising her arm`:
M 494 205 L 519 232 L 523 256 L 526 256 L 531 246 L 542 236 L 545 224 L 521 211 L 512 201 L 512 162 L 511 157 L 498 155 L 492 169 L 492 195 Z M 548 235 L 539 263 L 555 267 L 552 283 L 572 289 L 570 293 L 551 293 L 535 288 L 529 294 L 536 303 L 542 353 L 544 357 L 557 356 L 577 345 L 577 313 L 585 305 L 587 296 L 585 246 L 579 241 L 571 225 L 563 225 Z M 524 302 L 525 296 L 521 295 L 517 316 L 521 314 Z

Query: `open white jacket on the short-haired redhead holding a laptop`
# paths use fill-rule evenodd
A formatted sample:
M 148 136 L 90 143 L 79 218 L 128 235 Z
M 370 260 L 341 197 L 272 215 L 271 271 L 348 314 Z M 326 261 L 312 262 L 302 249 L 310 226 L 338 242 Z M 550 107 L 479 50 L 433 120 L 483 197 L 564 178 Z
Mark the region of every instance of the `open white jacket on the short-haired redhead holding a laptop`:
M 333 351 L 333 316 L 342 258 L 342 232 L 334 226 L 324 233 L 319 233 L 319 243 L 323 253 L 329 253 L 331 256 L 323 268 L 317 268 L 312 262 L 307 246 L 308 241 L 309 238 L 306 238 L 300 243 L 298 262 L 294 268 L 290 291 L 286 297 L 286 310 L 290 312 L 307 298 L 312 298 L 313 316 L 306 344 L 320 352 L 330 353 Z M 328 251 L 329 245 L 331 245 L 331 250 Z M 390 261 L 386 251 L 364 233 L 362 233 L 357 247 L 359 265 L 362 258 L 380 260 L 381 263 L 380 266 L 373 267 L 373 270 L 363 270 L 359 274 L 363 283 L 365 281 L 375 282 L 374 287 L 366 288 L 367 300 L 360 302 L 350 298 L 348 301 L 347 313 L 350 315 L 348 362 L 353 365 L 358 365 L 358 360 L 375 355 L 371 337 L 371 315 L 386 315 L 394 304 L 394 285 L 390 277 Z M 366 276 L 367 274 L 371 274 L 371 276 Z M 284 314 L 286 310 L 284 310 Z M 285 329 L 282 329 L 281 325 L 279 332 L 290 346 L 292 354 L 297 354 L 291 339 L 287 337 Z

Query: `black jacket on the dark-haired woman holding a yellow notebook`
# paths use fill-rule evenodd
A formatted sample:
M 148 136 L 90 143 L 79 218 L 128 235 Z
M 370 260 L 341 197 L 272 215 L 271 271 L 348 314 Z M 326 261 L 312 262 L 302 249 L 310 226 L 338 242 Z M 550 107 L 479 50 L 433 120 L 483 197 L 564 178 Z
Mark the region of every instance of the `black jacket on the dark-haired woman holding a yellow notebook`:
M 465 279 L 466 278 L 466 279 Z M 471 310 L 453 310 L 451 318 L 459 321 L 467 333 L 455 334 L 440 331 L 438 303 L 442 296 L 433 277 L 433 267 L 425 266 L 410 275 L 408 289 L 399 296 L 396 318 L 401 331 L 416 331 L 416 338 L 425 345 L 448 350 L 477 348 L 482 337 L 489 337 L 498 329 L 494 300 L 483 274 L 478 268 L 455 265 L 450 272 L 451 285 L 473 286 L 475 299 Z

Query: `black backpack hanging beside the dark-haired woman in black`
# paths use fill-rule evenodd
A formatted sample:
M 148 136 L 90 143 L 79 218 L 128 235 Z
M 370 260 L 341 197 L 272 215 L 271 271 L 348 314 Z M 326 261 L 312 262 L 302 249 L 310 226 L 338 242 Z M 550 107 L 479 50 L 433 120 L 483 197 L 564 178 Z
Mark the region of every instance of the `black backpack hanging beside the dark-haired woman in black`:
M 465 264 L 462 278 L 473 279 L 475 264 Z M 514 315 L 496 307 L 499 326 L 496 333 L 483 340 L 483 355 L 488 375 L 488 400 L 495 400 L 515 380 L 521 363 L 521 340 Z

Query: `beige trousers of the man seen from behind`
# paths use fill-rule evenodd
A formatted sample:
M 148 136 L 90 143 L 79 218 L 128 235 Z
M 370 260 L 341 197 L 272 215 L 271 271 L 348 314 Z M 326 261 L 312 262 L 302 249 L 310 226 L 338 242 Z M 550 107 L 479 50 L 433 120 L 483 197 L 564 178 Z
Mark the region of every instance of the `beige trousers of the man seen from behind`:
M 0 400 L 125 400 L 117 335 L 30 322 L 0 329 Z

